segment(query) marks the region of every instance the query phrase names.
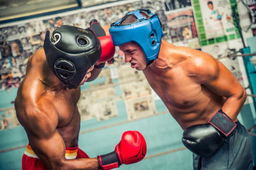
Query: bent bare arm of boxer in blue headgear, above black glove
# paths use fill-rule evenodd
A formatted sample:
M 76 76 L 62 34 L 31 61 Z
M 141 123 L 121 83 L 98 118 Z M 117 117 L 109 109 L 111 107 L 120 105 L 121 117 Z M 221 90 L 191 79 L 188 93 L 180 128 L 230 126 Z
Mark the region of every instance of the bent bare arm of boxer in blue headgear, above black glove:
M 196 79 L 213 93 L 226 98 L 221 109 L 236 121 L 246 100 L 245 89 L 221 62 L 204 52 L 200 55 L 195 61 Z

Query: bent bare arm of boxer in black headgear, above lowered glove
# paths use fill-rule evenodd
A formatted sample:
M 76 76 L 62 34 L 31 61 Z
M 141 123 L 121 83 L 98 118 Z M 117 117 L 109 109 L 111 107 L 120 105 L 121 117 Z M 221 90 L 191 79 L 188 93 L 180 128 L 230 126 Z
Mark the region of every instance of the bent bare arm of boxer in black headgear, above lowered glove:
M 38 101 L 20 120 L 33 151 L 48 169 L 99 169 L 97 158 L 65 159 L 65 144 L 56 130 L 58 114 L 50 101 Z

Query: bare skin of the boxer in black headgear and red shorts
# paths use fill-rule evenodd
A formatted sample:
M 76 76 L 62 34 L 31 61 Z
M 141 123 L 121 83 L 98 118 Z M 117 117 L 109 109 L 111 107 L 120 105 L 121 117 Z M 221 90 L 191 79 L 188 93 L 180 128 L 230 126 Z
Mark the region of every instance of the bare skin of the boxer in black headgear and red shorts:
M 91 67 L 85 81 L 100 74 Z M 28 60 L 26 77 L 18 87 L 16 114 L 36 155 L 48 169 L 99 169 L 97 158 L 65 159 L 65 147 L 78 145 L 80 87 L 69 90 L 55 76 L 43 48 Z

